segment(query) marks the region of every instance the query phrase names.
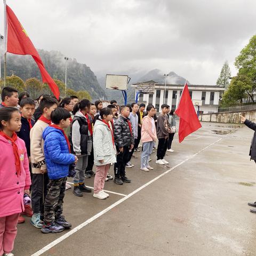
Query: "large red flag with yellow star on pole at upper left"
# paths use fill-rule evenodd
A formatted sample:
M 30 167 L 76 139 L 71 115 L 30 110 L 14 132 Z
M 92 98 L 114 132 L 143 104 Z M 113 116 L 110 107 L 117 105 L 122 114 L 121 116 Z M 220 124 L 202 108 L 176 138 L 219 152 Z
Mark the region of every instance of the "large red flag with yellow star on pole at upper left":
M 37 63 L 40 69 L 42 79 L 44 83 L 47 83 L 52 90 L 53 94 L 59 99 L 60 91 L 58 85 L 53 81 L 44 67 L 44 63 L 41 60 L 35 46 L 29 39 L 25 29 L 15 16 L 12 9 L 6 5 L 7 13 L 7 52 L 20 55 L 32 55 L 33 59 Z

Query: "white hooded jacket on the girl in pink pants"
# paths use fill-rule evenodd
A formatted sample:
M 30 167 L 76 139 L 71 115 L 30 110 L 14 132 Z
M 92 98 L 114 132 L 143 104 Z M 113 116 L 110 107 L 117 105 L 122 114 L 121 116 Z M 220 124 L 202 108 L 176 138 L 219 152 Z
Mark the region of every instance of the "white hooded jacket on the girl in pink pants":
M 113 145 L 112 130 L 100 120 L 97 120 L 94 125 L 93 151 L 95 165 L 106 165 L 116 162 L 116 146 Z M 103 163 L 100 163 L 99 160 L 103 160 Z

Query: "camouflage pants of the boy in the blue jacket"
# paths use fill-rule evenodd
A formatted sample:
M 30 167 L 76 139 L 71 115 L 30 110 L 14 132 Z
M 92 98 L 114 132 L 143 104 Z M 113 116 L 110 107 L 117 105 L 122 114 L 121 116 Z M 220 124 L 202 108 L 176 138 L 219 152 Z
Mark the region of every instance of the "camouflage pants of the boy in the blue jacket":
M 47 195 L 44 203 L 44 221 L 49 223 L 53 220 L 53 214 L 59 218 L 63 212 L 63 198 L 65 196 L 67 177 L 51 180 L 47 185 Z

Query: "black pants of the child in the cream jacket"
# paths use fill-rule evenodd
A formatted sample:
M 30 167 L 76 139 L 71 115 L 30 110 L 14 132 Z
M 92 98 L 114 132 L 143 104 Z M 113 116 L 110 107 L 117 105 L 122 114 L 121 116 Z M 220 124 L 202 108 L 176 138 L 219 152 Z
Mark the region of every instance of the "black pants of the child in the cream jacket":
M 34 213 L 40 213 L 41 220 L 44 218 L 44 201 L 47 195 L 47 185 L 49 178 L 45 174 L 33 174 L 32 189 L 31 189 L 31 203 Z

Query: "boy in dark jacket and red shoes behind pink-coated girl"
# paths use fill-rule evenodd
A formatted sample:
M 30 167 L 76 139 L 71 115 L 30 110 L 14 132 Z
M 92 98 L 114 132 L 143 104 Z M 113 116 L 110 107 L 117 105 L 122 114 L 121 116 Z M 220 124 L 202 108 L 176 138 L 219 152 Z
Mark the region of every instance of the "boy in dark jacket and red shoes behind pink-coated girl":
M 25 142 L 27 155 L 30 163 L 30 130 L 35 125 L 35 121 L 31 118 L 35 112 L 36 103 L 33 99 L 30 98 L 23 98 L 20 102 L 20 112 L 21 112 L 21 129 L 17 132 L 17 135 L 20 139 Z M 31 166 L 29 164 L 29 171 L 30 171 L 30 178 L 32 180 L 32 172 Z M 28 217 L 32 217 L 33 211 L 29 204 L 25 205 L 25 211 L 21 214 L 27 215 Z M 20 216 L 18 223 L 25 222 L 25 219 Z

